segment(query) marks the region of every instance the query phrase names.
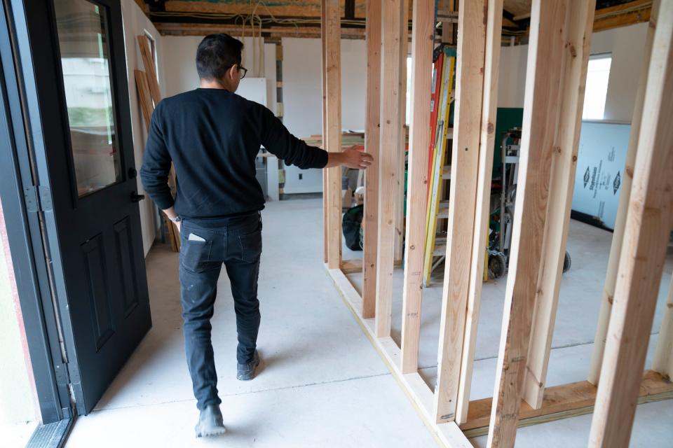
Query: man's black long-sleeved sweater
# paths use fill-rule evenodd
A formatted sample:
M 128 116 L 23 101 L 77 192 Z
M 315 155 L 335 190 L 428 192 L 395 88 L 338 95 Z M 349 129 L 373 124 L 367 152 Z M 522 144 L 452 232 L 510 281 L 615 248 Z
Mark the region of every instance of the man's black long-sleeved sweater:
M 265 202 L 254 167 L 260 145 L 288 165 L 327 165 L 327 152 L 294 137 L 261 104 L 224 89 L 191 90 L 156 107 L 140 178 L 158 207 L 168 209 L 174 205 L 168 187 L 173 162 L 175 212 L 183 218 L 258 211 Z

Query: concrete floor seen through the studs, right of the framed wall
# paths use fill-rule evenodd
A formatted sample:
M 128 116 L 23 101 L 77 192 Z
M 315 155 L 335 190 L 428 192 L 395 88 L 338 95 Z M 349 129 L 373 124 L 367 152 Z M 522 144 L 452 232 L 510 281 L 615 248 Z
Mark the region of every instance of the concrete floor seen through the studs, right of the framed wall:
M 571 269 L 562 277 L 559 307 L 552 338 L 548 386 L 567 384 L 587 379 L 592 356 L 594 335 L 600 309 L 601 293 L 607 270 L 612 234 L 590 225 L 571 221 L 568 251 Z M 361 258 L 360 253 L 344 251 L 344 258 Z M 665 310 L 665 302 L 673 271 L 673 254 L 667 257 L 655 312 L 653 334 L 648 344 L 646 368 L 651 367 L 656 337 Z M 419 366 L 423 379 L 434 388 L 437 378 L 437 349 L 440 333 L 443 268 L 437 269 L 439 277 L 430 288 L 423 290 L 421 309 L 421 344 Z M 362 274 L 348 274 L 358 290 Z M 393 274 L 392 337 L 397 344 L 401 339 L 402 323 L 402 269 Z M 477 328 L 477 348 L 471 400 L 493 396 L 496 378 L 498 346 L 500 344 L 503 304 L 507 277 L 484 283 L 480 319 Z M 673 447 L 673 400 L 639 405 L 634 424 L 632 447 Z M 590 416 L 522 428 L 517 433 L 517 447 L 580 447 L 588 440 Z M 549 436 L 553 434 L 552 439 Z M 486 437 L 472 440 L 476 447 L 486 446 Z

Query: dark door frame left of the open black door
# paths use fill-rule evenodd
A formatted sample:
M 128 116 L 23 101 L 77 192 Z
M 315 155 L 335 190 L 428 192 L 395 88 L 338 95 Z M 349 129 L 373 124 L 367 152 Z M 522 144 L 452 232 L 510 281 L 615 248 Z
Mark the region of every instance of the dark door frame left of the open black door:
M 25 70 L 31 58 L 22 3 L 0 1 L 0 18 L 0 196 L 41 423 L 70 424 L 74 414 L 67 351 L 60 343 L 51 293 L 55 279 L 43 235 L 55 229 L 46 222 L 51 209 L 48 187 L 41 185 L 39 170 L 34 169 L 32 145 L 39 142 L 34 137 L 41 128 L 31 113 L 37 106 L 36 91 L 32 72 Z

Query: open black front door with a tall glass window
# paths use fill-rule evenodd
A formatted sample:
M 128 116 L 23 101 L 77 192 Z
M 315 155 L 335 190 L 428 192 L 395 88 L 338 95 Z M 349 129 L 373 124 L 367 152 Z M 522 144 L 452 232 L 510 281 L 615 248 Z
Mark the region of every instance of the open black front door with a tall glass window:
M 86 414 L 151 327 L 121 7 L 11 2 L 52 290 Z

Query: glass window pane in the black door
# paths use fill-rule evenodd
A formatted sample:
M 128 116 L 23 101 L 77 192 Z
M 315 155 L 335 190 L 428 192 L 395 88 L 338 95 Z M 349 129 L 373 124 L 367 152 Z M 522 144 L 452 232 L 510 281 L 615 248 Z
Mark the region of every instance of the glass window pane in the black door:
M 55 0 L 72 157 L 80 197 L 121 180 L 105 9 Z

